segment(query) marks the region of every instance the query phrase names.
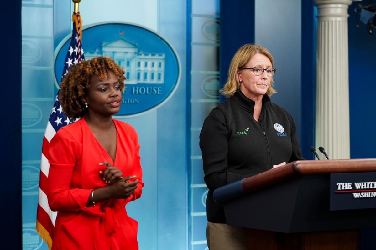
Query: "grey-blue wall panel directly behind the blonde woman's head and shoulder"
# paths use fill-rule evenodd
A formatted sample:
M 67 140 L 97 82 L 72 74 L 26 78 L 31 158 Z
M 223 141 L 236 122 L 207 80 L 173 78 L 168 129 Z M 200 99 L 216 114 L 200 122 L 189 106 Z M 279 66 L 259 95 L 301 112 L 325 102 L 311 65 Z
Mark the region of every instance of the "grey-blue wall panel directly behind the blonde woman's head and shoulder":
M 293 116 L 299 141 L 306 130 L 301 117 L 301 16 L 300 0 L 255 1 L 255 43 L 270 51 L 276 69 L 273 80 L 277 93 L 271 100 Z M 309 149 L 302 148 L 305 150 Z

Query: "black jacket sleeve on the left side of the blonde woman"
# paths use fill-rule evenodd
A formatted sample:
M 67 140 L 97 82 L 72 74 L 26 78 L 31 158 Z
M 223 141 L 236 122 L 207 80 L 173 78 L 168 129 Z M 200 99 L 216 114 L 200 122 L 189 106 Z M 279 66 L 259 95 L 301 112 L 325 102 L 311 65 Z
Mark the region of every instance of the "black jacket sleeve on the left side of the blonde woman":
M 227 123 L 223 113 L 219 109 L 213 109 L 206 117 L 200 133 L 204 180 L 212 190 L 240 179 L 239 174 L 227 171 L 227 136 Z

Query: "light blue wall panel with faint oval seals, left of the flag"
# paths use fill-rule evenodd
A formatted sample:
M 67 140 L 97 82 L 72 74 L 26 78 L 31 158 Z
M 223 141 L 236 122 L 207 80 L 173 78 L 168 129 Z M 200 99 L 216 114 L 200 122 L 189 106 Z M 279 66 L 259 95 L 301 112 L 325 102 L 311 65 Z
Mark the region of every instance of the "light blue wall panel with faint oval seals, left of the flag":
M 53 1 L 22 1 L 22 247 L 48 249 L 35 232 L 45 126 L 55 100 Z

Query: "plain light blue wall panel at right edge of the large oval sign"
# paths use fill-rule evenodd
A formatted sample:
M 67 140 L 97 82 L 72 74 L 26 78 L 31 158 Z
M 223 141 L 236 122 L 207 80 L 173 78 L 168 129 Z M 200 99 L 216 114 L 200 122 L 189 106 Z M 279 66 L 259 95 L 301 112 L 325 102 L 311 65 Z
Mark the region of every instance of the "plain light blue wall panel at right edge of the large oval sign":
M 176 49 L 180 84 L 158 109 L 158 249 L 186 249 L 188 185 L 186 165 L 186 3 L 159 1 L 159 33 Z

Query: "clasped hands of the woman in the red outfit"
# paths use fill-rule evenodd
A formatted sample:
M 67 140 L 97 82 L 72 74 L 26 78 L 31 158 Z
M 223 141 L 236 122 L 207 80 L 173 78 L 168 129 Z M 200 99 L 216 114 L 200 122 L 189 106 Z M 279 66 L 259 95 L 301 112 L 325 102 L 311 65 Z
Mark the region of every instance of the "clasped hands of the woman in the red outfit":
M 138 180 L 128 181 L 136 178 L 136 175 L 128 175 L 123 177 L 123 173 L 115 166 L 112 166 L 108 162 L 101 162 L 99 165 L 106 165 L 104 171 L 99 171 L 100 176 L 103 178 L 103 181 L 108 185 L 111 185 L 113 198 L 126 199 L 137 188 Z

